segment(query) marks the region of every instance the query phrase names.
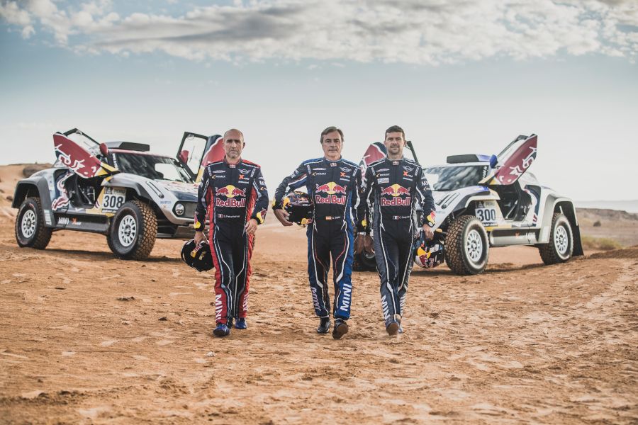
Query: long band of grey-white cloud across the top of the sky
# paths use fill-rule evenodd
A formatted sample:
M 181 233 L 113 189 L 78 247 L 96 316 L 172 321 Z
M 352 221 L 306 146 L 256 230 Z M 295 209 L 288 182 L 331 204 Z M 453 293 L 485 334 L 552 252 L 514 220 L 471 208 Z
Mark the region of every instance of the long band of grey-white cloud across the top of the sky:
M 120 16 L 109 0 L 59 9 L 51 0 L 0 0 L 0 16 L 30 37 L 116 55 L 161 51 L 189 60 L 442 64 L 603 55 L 634 60 L 633 0 L 234 1 L 179 16 Z

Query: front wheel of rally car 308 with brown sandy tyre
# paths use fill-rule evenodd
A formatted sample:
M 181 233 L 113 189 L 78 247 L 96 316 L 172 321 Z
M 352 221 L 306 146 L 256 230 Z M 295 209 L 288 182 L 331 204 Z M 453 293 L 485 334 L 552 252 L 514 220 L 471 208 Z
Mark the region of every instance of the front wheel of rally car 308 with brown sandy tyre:
M 106 238 L 113 254 L 123 260 L 147 259 L 155 246 L 157 217 L 149 205 L 132 200 L 116 212 Z

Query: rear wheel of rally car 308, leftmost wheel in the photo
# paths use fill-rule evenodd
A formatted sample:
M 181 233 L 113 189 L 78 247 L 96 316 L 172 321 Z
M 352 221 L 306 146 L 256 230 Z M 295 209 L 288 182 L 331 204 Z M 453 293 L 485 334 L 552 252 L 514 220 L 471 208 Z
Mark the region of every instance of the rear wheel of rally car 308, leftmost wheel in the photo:
M 45 249 L 53 229 L 45 227 L 40 198 L 26 198 L 16 216 L 16 241 L 19 246 Z

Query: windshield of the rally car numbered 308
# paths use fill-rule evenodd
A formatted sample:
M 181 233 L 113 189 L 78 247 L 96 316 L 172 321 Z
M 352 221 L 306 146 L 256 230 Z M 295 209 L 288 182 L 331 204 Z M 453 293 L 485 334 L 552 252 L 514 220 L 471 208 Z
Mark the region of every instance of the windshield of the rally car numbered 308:
M 135 174 L 152 180 L 170 180 L 192 183 L 177 159 L 155 155 L 113 152 L 113 165 L 123 173 Z

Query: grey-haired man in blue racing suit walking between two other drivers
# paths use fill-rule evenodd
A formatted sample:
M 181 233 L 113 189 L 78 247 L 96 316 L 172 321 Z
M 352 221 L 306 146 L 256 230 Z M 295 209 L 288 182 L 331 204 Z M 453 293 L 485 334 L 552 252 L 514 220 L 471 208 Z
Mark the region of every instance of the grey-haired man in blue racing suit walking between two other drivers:
M 335 317 L 332 337 L 340 339 L 348 331 L 347 319 L 352 304 L 352 262 L 354 260 L 354 224 L 357 223 L 361 170 L 341 157 L 343 132 L 329 127 L 321 132 L 324 157 L 308 159 L 281 182 L 273 201 L 274 215 L 281 224 L 291 226 L 281 202 L 286 193 L 306 186 L 314 203 L 312 224 L 308 225 L 308 280 L 315 314 L 320 317 L 319 334 L 330 330 L 330 310 Z M 332 254 L 332 280 L 335 301 L 330 309 L 328 271 Z

